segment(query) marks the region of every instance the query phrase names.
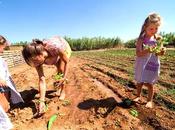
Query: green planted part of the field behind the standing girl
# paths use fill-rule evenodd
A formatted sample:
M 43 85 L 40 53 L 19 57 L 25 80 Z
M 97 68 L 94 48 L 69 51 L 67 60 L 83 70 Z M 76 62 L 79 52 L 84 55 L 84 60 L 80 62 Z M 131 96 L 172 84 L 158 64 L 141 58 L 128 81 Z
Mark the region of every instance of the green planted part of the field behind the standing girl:
M 129 75 L 130 81 L 134 80 L 135 49 L 116 49 L 104 51 L 75 52 L 74 55 L 89 60 L 93 64 L 104 65 L 111 69 L 122 71 Z M 175 51 L 167 50 L 161 59 L 161 73 L 158 85 L 168 91 L 175 89 Z M 174 91 L 173 91 L 174 92 Z M 171 96 L 175 96 L 174 93 Z

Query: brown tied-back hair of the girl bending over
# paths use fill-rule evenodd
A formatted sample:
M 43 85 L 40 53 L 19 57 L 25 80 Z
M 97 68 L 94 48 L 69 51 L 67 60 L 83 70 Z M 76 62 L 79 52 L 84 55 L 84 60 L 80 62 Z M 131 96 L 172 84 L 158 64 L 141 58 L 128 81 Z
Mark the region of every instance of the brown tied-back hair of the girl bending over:
M 30 65 L 30 58 L 42 54 L 44 50 L 43 42 L 39 39 L 33 39 L 32 43 L 23 47 L 22 55 L 25 62 Z

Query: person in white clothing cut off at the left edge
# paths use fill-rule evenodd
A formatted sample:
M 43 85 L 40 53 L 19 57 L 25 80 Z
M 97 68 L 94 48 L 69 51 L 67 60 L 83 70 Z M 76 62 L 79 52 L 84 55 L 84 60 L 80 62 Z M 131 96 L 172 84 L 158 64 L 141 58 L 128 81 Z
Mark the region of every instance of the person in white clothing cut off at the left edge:
M 0 53 L 3 53 L 7 45 L 7 40 L 0 35 Z M 11 129 L 12 124 L 5 113 L 10 109 L 9 102 L 16 104 L 24 101 L 16 90 L 5 60 L 1 57 L 0 68 L 0 129 Z

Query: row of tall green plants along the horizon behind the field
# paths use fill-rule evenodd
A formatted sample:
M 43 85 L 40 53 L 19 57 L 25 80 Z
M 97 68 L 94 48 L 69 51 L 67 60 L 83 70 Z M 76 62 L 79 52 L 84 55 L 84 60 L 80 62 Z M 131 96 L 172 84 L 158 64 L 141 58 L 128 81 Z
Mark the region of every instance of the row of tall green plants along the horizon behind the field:
M 165 37 L 168 41 L 167 47 L 175 47 L 175 33 L 164 33 L 161 32 L 160 35 Z M 72 50 L 80 51 L 80 50 L 95 50 L 95 49 L 105 49 L 105 48 L 117 48 L 117 47 L 126 47 L 126 48 L 135 48 L 136 40 L 131 39 L 126 42 L 122 41 L 119 37 L 114 38 L 104 38 L 104 37 L 83 37 L 83 38 L 69 38 L 64 37 L 68 43 L 70 44 Z M 28 44 L 25 42 L 17 42 L 13 43 L 13 46 L 24 46 Z

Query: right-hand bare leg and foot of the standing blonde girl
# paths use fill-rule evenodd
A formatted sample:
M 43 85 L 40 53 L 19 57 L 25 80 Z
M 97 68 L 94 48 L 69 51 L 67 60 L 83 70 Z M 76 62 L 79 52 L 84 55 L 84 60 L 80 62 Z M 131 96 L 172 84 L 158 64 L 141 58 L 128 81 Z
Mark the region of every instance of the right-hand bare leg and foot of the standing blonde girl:
M 148 102 L 146 104 L 146 107 L 153 108 L 153 95 L 154 95 L 154 89 L 152 84 L 145 84 L 148 87 Z

